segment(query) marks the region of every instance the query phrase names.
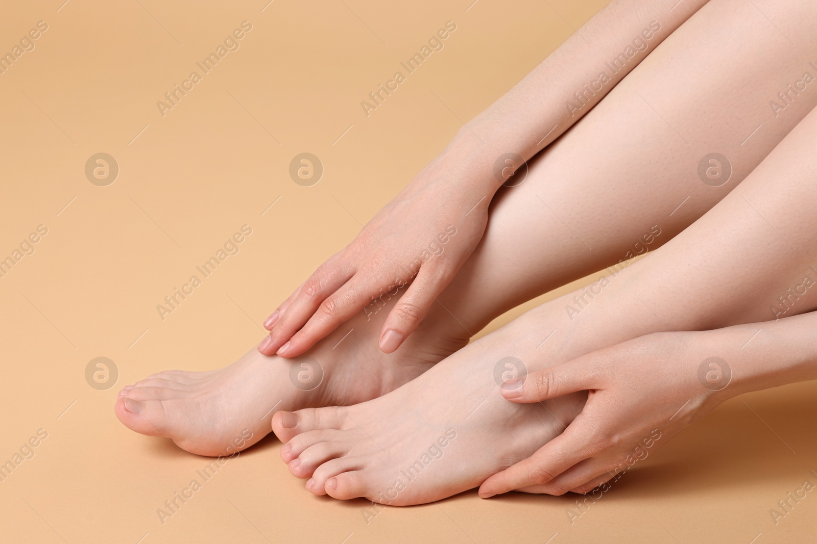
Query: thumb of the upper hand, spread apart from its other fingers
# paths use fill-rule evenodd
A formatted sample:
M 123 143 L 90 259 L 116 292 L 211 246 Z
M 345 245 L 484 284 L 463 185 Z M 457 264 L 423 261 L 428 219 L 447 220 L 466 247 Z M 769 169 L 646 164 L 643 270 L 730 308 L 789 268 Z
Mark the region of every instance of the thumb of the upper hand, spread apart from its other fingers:
M 436 296 L 445 289 L 451 278 L 446 277 L 434 268 L 422 267 L 405 294 L 400 297 L 395 307 L 391 308 L 380 333 L 380 349 L 392 353 L 412 334 Z

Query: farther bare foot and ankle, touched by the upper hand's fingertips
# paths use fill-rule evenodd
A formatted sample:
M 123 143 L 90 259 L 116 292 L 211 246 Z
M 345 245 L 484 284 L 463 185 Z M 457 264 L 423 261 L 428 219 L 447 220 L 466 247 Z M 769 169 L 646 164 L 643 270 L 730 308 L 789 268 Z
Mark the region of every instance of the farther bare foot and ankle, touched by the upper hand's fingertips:
M 406 346 L 386 355 L 377 336 L 388 309 L 374 316 L 360 313 L 303 356 L 265 356 L 252 347 L 223 369 L 153 374 L 120 391 L 114 411 L 133 431 L 165 436 L 190 453 L 230 455 L 266 436 L 275 410 L 375 398 L 468 341 L 469 334 L 453 319 L 445 324 L 432 319 Z M 451 322 L 456 326 L 446 326 Z M 457 329 L 461 332 L 451 332 Z

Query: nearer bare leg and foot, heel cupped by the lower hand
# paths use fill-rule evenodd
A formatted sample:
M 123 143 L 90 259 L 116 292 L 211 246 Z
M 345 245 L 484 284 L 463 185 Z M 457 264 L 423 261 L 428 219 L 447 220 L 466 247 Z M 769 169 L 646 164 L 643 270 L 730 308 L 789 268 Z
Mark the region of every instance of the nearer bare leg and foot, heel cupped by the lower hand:
M 653 332 L 815 310 L 815 142 L 817 109 L 743 184 L 654 254 L 535 308 L 403 387 L 346 408 L 275 414 L 290 471 L 310 477 L 313 493 L 335 498 L 448 497 L 529 457 L 581 409 L 582 394 L 529 405 L 505 400 L 498 387 L 525 368 Z

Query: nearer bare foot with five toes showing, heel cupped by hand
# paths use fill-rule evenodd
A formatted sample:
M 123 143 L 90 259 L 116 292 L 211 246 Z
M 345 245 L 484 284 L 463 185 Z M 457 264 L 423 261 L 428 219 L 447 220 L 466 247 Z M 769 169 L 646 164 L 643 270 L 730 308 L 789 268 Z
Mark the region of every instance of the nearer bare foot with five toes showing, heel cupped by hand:
M 557 320 L 531 313 L 385 396 L 276 413 L 275 434 L 288 440 L 283 461 L 317 495 L 410 505 L 472 489 L 529 457 L 564 431 L 587 398 L 520 405 L 500 394 L 507 373 L 523 368 L 519 360 L 529 370 L 556 362 L 536 347 Z

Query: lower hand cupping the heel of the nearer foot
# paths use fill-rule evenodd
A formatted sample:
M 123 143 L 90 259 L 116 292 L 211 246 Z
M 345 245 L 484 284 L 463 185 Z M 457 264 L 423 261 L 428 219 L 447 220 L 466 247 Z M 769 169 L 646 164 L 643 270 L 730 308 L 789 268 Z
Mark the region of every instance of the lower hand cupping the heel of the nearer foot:
M 513 402 L 589 393 L 582 413 L 560 436 L 485 480 L 480 497 L 513 489 L 587 493 L 646 458 L 736 394 L 727 387 L 730 365 L 720 357 L 734 361 L 733 342 L 724 346 L 718 334 L 648 334 L 516 378 L 522 387 L 514 387 L 516 380 L 503 384 L 502 396 Z

